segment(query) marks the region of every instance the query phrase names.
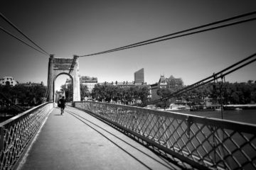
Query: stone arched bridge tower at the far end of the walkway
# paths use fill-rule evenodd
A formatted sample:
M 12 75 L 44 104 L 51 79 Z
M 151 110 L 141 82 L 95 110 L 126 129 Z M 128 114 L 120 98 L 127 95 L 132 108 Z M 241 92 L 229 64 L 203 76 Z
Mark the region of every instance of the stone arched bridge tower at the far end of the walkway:
M 55 101 L 55 80 L 60 75 L 68 75 L 73 82 L 73 101 L 80 101 L 80 74 L 78 56 L 70 58 L 55 58 L 50 55 L 48 64 L 48 101 Z

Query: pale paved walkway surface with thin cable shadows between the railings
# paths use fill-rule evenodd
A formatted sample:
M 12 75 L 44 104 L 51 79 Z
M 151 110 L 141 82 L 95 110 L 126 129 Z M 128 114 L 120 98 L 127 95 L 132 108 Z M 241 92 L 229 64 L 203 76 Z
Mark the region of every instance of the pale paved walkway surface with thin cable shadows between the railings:
M 18 169 L 178 169 L 93 116 L 54 108 Z

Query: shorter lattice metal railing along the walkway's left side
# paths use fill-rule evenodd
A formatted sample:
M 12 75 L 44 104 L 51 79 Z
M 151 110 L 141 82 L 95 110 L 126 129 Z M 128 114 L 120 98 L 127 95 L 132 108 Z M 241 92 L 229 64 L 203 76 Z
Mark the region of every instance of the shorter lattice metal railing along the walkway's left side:
M 11 169 L 53 108 L 43 103 L 0 123 L 0 169 Z

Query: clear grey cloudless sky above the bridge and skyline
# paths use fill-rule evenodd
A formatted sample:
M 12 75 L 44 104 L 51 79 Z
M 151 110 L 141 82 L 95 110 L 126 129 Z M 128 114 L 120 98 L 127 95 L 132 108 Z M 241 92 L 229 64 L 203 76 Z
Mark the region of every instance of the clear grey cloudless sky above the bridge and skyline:
M 179 30 L 255 11 L 256 1 L 233 0 L 1 0 L 0 12 L 46 52 L 73 58 L 129 45 Z M 0 18 L 0 26 L 21 37 Z M 148 84 L 161 75 L 193 84 L 255 53 L 256 21 L 183 38 L 79 57 L 81 76 L 104 81 L 134 81 L 144 68 Z M 25 39 L 23 39 L 25 40 Z M 256 63 L 225 77 L 256 80 Z M 23 45 L 0 30 L 0 77 L 47 84 L 48 56 Z M 58 77 L 56 86 L 68 77 Z

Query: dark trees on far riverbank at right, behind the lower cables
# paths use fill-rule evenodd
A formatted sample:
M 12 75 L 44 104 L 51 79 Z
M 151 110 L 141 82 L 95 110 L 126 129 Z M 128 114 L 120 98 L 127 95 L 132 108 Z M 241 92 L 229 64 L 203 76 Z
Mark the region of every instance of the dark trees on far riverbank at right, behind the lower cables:
M 159 89 L 157 94 L 161 97 L 171 95 L 174 90 Z M 224 104 L 254 104 L 256 103 L 256 83 L 248 81 L 247 83 L 229 83 L 220 82 L 206 84 L 196 89 L 181 94 L 176 99 L 185 100 L 192 104 L 220 103 L 220 99 Z

